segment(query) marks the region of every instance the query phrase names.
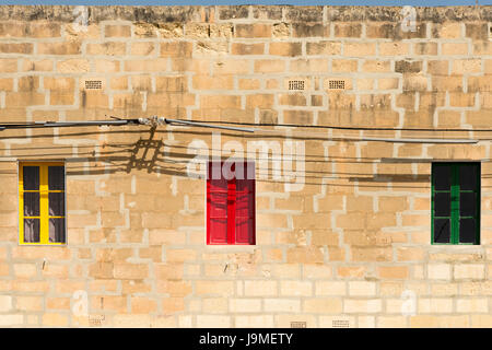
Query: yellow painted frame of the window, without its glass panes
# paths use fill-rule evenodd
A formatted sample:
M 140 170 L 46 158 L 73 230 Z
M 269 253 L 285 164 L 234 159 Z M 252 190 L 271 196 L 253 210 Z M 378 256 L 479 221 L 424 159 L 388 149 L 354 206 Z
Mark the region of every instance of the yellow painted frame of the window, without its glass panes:
M 24 166 L 39 166 L 39 242 L 24 242 L 24 179 L 23 179 L 23 168 Z M 63 190 L 48 190 L 48 166 L 63 166 L 63 182 L 65 189 Z M 45 168 L 43 171 L 42 168 Z M 42 174 L 46 175 L 46 183 L 43 184 Z M 65 242 L 49 242 L 49 201 L 48 198 L 44 198 L 42 196 L 42 186 L 46 186 L 47 194 L 49 192 L 62 192 L 63 196 L 63 210 L 65 210 Z M 63 161 L 17 161 L 17 223 L 19 223 L 19 232 L 17 232 L 17 244 L 19 245 L 28 245 L 28 246 L 65 246 L 68 244 L 68 226 L 67 226 L 67 166 Z M 45 206 L 43 209 L 42 207 Z M 61 217 L 60 217 L 61 219 Z M 43 225 L 44 223 L 44 225 Z

